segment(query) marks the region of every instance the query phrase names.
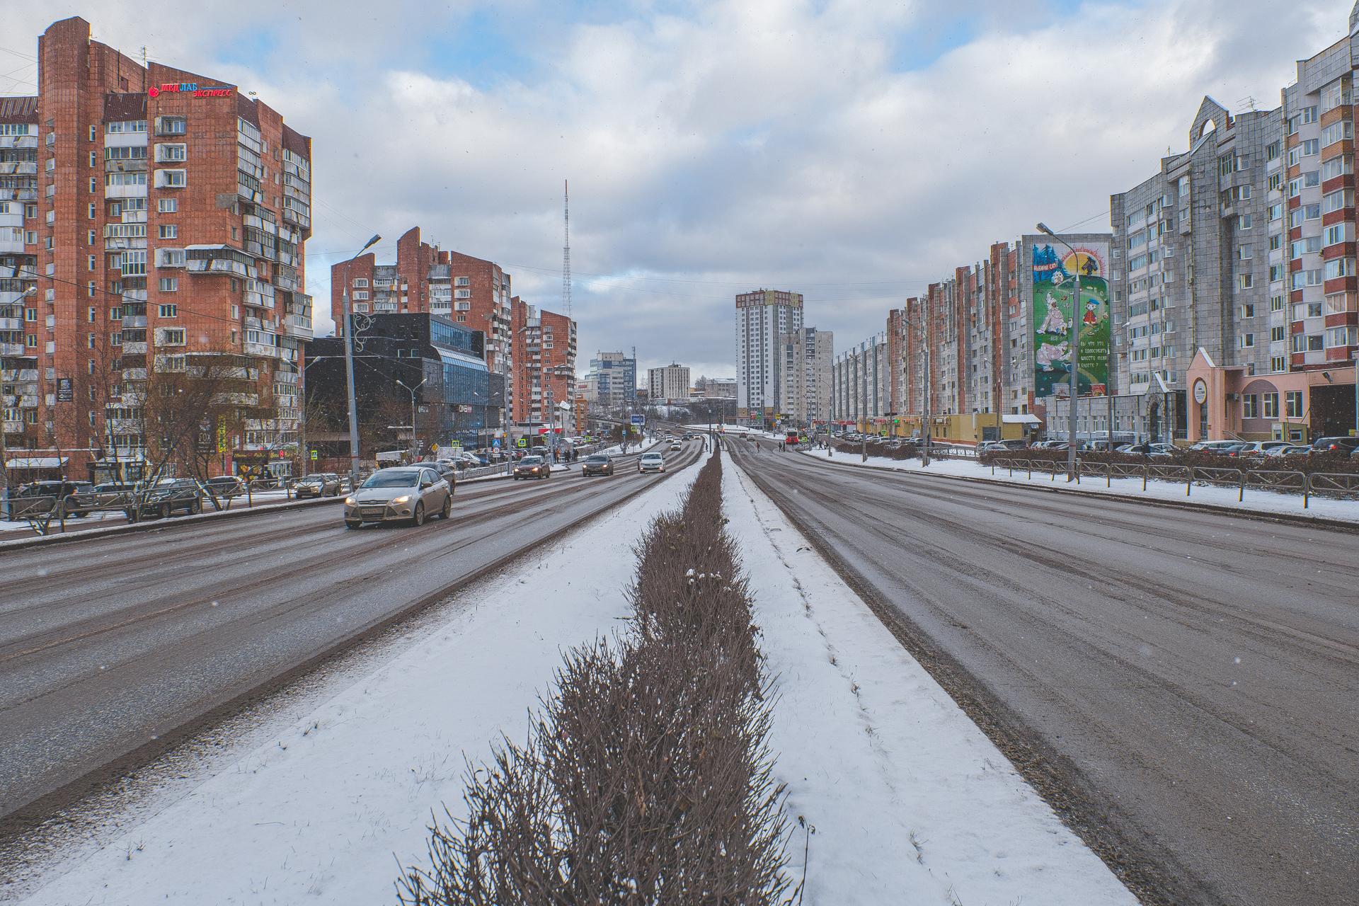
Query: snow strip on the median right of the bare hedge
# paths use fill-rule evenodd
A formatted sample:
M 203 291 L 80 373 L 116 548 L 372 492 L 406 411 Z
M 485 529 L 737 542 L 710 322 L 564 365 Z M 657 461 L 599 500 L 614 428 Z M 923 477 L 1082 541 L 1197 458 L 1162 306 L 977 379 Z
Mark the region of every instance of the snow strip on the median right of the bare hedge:
M 1136 903 L 739 469 L 723 499 L 779 681 L 775 773 L 815 826 L 806 902 Z

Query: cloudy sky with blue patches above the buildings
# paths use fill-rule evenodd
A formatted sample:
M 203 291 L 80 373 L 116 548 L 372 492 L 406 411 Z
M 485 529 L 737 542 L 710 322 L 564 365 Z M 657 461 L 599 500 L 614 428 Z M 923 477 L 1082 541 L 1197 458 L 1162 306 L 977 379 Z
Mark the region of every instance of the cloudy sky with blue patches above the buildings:
M 255 91 L 313 137 L 307 288 L 371 235 L 503 265 L 560 311 L 571 183 L 580 371 L 636 348 L 735 374 L 734 296 L 802 292 L 837 348 L 992 242 L 1109 228 L 1199 102 L 1279 105 L 1348 0 L 0 0 L 0 94 L 80 15 L 125 53 Z

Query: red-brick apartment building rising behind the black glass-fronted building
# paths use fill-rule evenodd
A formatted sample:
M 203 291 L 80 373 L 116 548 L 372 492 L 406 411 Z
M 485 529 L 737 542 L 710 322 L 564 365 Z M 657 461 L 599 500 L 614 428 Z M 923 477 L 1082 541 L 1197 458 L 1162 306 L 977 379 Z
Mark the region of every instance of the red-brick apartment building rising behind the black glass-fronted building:
M 355 314 L 435 314 L 480 330 L 487 365 L 504 378 L 506 393 L 514 393 L 511 278 L 500 265 L 421 242 L 413 227 L 397 240 L 395 264 L 379 265 L 370 251 L 330 268 L 330 315 L 338 333 L 345 288 Z

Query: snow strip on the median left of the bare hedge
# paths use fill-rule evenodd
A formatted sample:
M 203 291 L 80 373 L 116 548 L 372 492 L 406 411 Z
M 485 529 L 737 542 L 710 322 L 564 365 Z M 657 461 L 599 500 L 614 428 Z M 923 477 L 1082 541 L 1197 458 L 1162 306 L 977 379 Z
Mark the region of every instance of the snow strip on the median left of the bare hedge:
M 463 753 L 523 739 L 527 710 L 575 644 L 626 615 L 632 541 L 697 469 L 646 492 L 552 553 L 454 599 L 446 623 L 270 742 L 95 852 L 54 865 L 27 906 L 394 902 L 397 863 L 462 808 Z

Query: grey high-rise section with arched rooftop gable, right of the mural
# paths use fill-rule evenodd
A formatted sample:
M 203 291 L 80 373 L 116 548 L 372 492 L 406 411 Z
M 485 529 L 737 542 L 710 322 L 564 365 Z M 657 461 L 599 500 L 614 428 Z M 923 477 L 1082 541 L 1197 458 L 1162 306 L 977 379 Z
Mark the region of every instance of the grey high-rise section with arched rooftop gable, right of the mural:
M 1250 374 L 1287 368 L 1287 341 L 1273 330 L 1284 323 L 1288 270 L 1282 137 L 1279 110 L 1233 115 L 1204 98 L 1189 149 L 1162 158 L 1159 173 L 1110 197 L 1123 393 L 1161 394 L 1163 383 L 1182 398 L 1199 349 Z M 1311 192 L 1318 213 L 1309 230 L 1320 243 L 1320 189 Z M 1320 274 L 1320 246 L 1309 261 Z

